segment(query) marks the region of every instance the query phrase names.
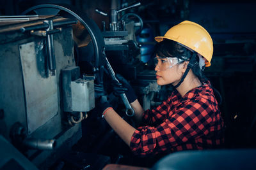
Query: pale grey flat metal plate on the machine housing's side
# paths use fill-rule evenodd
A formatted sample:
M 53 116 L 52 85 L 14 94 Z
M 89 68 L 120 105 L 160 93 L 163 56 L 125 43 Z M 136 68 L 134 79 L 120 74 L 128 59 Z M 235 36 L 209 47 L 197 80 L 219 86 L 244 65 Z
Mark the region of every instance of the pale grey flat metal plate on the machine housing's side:
M 57 79 L 56 76 L 42 76 L 38 71 L 35 42 L 20 45 L 19 50 L 26 96 L 28 134 L 31 134 L 57 114 Z

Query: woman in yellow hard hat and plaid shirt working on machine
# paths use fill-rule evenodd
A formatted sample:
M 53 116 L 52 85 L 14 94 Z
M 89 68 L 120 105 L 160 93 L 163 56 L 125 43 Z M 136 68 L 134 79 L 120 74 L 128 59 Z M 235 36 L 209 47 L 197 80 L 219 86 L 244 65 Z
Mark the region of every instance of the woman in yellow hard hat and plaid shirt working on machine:
M 119 76 L 141 126 L 127 124 L 107 101 L 98 104 L 103 117 L 137 155 L 219 148 L 224 123 L 211 84 L 202 74 L 211 65 L 211 36 L 202 26 L 184 21 L 155 39 L 157 84 L 172 84 L 175 90 L 156 109 L 144 111 L 131 85 Z

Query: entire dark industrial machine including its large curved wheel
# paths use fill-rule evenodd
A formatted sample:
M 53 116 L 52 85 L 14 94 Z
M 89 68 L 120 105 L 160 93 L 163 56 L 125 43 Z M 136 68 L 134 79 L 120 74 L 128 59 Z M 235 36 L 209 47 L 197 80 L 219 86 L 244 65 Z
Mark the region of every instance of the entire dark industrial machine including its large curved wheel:
M 108 152 L 104 142 L 111 137 L 119 146 L 124 143 L 97 113 L 95 88 L 106 88 L 113 106 L 131 124 L 134 111 L 126 96 L 120 101 L 111 90 L 115 73 L 132 82 L 145 109 L 159 92 L 154 71 L 145 69 L 148 66 L 140 59 L 135 32 L 141 31 L 142 19 L 134 13 L 117 17 L 139 5 L 112 10 L 109 27 L 103 23 L 102 31 L 84 13 L 63 4 L 42 4 L 22 15 L 0 18 L 0 132 L 8 145 L 3 151 L 15 150 L 0 167 L 67 166 L 67 155 L 76 152 L 74 162 L 95 155 L 102 164 L 93 167 L 100 169 L 111 159 L 118 162 L 124 157 L 104 153 Z M 92 160 L 82 165 L 92 167 Z

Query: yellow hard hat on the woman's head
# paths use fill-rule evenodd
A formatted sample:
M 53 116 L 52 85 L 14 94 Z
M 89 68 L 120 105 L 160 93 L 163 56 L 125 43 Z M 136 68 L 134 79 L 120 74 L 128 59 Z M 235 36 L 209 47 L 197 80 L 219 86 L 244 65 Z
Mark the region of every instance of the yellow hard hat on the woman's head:
M 171 39 L 202 55 L 205 67 L 211 66 L 213 43 L 210 34 L 199 24 L 185 20 L 170 28 L 164 36 L 157 36 L 157 42 Z

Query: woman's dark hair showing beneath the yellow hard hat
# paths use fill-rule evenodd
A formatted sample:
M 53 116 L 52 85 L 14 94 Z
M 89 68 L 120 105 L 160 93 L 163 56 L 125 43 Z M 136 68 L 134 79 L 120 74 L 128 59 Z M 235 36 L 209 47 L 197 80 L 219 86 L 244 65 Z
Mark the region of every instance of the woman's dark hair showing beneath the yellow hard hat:
M 159 57 L 177 57 L 183 60 L 182 62 L 180 62 L 181 64 L 186 60 L 190 60 L 193 52 L 175 41 L 172 41 L 170 39 L 164 39 L 160 43 L 156 44 L 155 54 Z M 196 55 L 195 62 L 191 64 L 193 64 L 193 67 L 191 68 L 192 72 L 195 74 L 196 77 L 198 77 L 201 83 L 207 81 L 207 78 L 204 76 L 204 73 L 200 69 L 198 55 Z

